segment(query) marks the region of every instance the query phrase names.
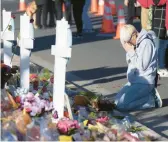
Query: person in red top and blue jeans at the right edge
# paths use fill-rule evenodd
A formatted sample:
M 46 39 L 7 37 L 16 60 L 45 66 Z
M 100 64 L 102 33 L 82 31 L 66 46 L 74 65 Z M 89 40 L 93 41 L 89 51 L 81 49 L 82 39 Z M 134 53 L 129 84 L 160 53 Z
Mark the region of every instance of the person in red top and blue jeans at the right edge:
M 165 54 L 168 45 L 168 0 L 153 0 L 152 30 L 158 37 L 158 74 L 160 77 L 168 77 L 165 68 Z

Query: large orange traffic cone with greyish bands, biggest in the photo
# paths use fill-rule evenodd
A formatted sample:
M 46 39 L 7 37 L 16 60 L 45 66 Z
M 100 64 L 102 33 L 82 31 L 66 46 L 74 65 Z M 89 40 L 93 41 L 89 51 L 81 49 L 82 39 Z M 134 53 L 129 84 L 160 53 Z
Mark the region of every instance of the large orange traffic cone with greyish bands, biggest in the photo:
M 111 12 L 110 5 L 108 0 L 105 0 L 105 7 L 104 7 L 104 16 L 102 22 L 102 29 L 101 33 L 113 33 L 115 32 L 114 23 L 113 23 L 113 16 Z

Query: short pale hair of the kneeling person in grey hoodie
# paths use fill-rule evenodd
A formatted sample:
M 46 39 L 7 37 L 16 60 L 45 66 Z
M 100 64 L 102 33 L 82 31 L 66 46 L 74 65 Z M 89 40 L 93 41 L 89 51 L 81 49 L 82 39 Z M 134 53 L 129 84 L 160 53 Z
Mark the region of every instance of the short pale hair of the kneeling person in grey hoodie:
M 120 30 L 121 43 L 128 42 L 134 32 L 137 32 L 137 30 L 133 25 L 124 25 Z

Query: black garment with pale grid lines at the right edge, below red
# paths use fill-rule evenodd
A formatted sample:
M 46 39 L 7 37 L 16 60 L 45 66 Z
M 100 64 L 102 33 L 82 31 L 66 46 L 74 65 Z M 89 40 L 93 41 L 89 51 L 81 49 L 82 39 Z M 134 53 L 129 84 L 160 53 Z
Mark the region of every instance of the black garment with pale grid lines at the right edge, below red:
M 165 26 L 166 4 L 158 6 L 159 0 L 153 0 L 153 2 L 155 5 L 153 6 L 152 30 L 159 39 L 167 39 Z

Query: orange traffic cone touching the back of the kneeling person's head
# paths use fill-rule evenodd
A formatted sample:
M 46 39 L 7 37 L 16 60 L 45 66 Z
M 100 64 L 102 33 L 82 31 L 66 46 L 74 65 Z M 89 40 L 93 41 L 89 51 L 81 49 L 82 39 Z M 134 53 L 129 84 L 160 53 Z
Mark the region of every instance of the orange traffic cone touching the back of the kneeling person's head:
M 120 39 L 120 29 L 126 24 L 123 6 L 119 6 L 118 10 L 119 11 L 118 11 L 117 31 L 116 36 L 113 39 Z

